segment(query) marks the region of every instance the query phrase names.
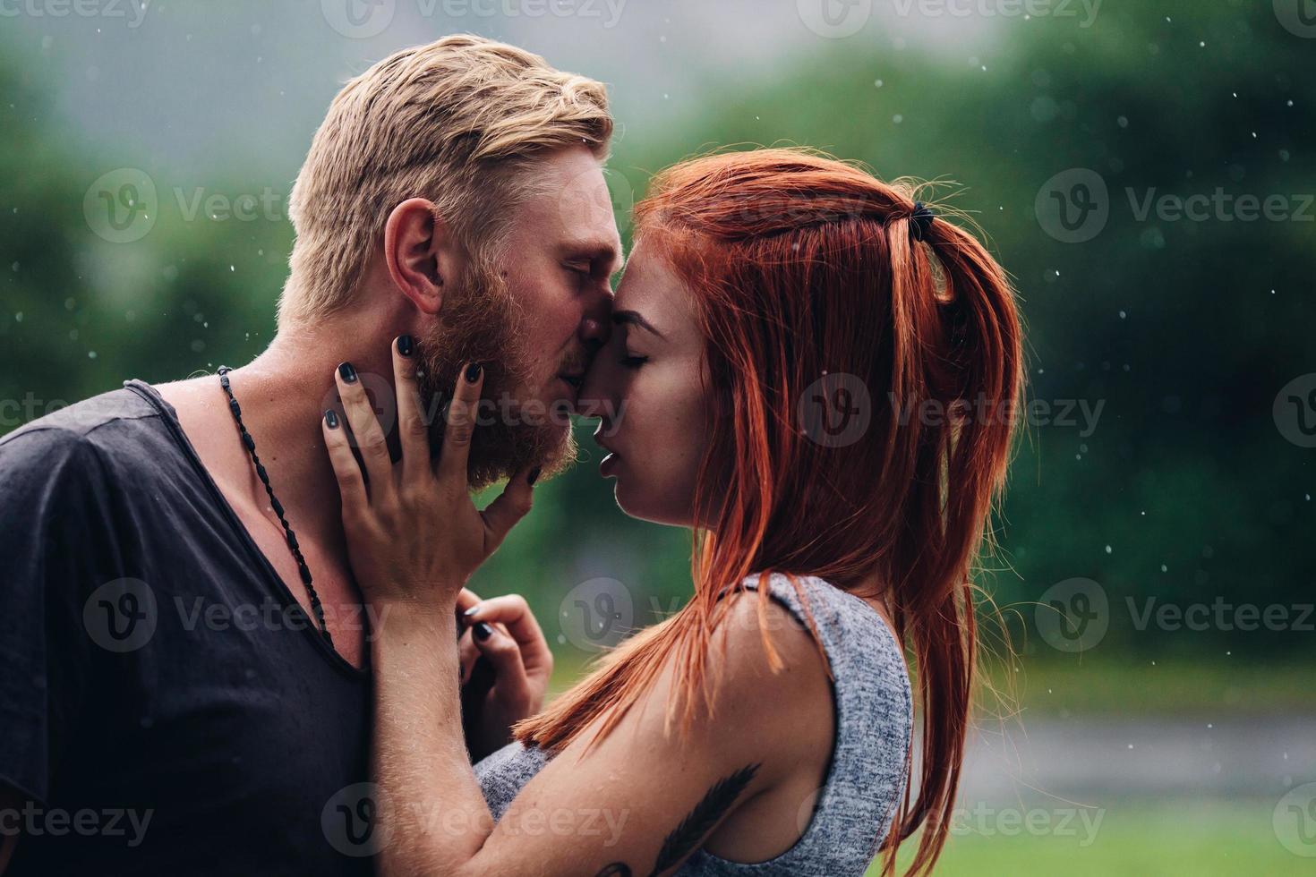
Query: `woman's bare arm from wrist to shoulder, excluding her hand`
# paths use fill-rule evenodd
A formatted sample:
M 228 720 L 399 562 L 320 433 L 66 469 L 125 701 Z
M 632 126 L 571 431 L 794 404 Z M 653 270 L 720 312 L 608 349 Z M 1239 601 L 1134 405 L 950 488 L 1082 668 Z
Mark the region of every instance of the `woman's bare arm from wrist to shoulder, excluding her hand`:
M 771 673 L 753 602 L 738 601 L 725 657 L 713 656 L 712 717 L 697 715 L 686 735 L 669 731 L 665 672 L 592 749 L 587 731 L 550 760 L 496 826 L 462 748 L 457 681 L 441 681 L 457 661 L 450 615 L 393 617 L 372 646 L 380 873 L 620 877 L 679 865 L 817 744 L 801 726 L 819 723 L 809 713 L 826 685 L 819 656 L 803 631 L 787 630 L 776 642 L 788 671 Z

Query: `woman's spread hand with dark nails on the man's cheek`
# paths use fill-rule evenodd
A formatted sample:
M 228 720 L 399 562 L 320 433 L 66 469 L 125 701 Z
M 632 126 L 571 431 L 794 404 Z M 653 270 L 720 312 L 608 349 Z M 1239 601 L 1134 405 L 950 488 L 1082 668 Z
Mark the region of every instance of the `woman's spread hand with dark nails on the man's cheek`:
M 411 350 L 411 344 L 405 346 Z M 466 580 L 530 510 L 538 469 L 512 477 L 483 511 L 467 489 L 467 456 L 484 373 L 466 367 L 447 406 L 443 448 L 430 463 L 429 425 L 416 387 L 416 359 L 393 343 L 397 438 L 393 464 L 366 391 L 349 363 L 334 380 L 347 426 L 326 412 L 321 427 L 342 496 L 347 556 L 366 600 L 390 610 L 420 606 L 451 613 Z M 351 452 L 355 439 L 362 464 Z M 365 477 L 362 476 L 365 468 Z

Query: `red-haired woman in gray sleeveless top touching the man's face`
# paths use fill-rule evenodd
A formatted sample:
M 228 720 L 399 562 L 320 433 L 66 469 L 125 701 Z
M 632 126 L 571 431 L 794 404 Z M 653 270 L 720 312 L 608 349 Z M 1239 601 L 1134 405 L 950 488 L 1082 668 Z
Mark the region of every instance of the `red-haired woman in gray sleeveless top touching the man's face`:
M 409 438 L 368 500 L 343 430 L 325 430 L 353 567 L 387 613 L 372 646 L 383 872 L 861 874 L 879 851 L 894 870 L 920 824 L 925 872 L 963 755 L 969 571 L 1012 434 L 1013 418 L 980 414 L 1021 393 L 1004 271 L 904 185 L 796 150 L 679 164 L 634 218 L 582 398 L 624 413 L 599 433 L 621 509 L 694 531 L 694 593 L 474 770 L 458 625 L 533 665 L 526 713 L 550 663 L 524 601 L 462 590 L 529 509 L 533 475 L 471 505 L 478 366 L 432 472 L 395 351 Z M 353 429 L 371 429 L 361 388 L 340 392 Z

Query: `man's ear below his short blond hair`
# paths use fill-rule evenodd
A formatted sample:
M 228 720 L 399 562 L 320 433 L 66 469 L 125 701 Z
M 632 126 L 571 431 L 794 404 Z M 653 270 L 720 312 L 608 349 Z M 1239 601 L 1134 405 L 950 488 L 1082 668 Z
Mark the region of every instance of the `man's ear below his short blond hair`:
M 393 285 L 424 314 L 443 306 L 445 284 L 466 267 L 466 250 L 433 201 L 407 199 L 384 222 L 384 262 Z

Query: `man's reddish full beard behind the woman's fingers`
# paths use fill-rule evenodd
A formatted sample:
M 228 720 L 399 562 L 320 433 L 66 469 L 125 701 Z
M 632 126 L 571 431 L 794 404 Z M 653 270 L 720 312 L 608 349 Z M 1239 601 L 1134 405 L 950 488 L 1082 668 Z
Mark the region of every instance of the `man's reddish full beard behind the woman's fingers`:
M 417 372 L 424 410 L 429 418 L 430 455 L 443 446 L 447 402 L 465 380 L 468 363 L 484 368 L 480 409 L 471 437 L 467 481 L 479 490 L 517 472 L 541 467 L 540 480 L 567 468 L 576 458 L 569 414 L 544 405 L 522 409 L 519 394 L 540 388 L 533 358 L 525 343 L 528 314 L 512 300 L 496 272 L 475 267 L 461 283 L 447 285 L 440 323 L 418 344 Z

